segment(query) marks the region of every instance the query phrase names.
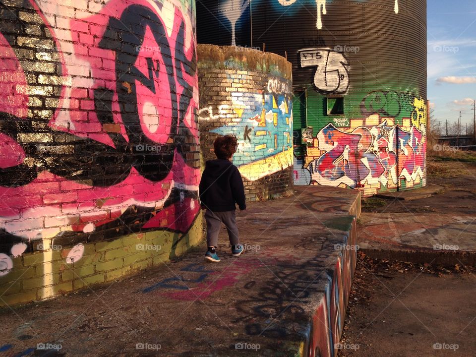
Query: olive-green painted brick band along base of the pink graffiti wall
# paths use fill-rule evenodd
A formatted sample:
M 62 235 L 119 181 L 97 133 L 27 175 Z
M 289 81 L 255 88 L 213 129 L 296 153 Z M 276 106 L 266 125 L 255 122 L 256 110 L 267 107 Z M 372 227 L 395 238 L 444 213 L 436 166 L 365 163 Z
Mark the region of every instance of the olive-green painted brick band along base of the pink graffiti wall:
M 177 255 L 202 240 L 201 230 L 196 229 L 199 226 L 197 222 L 190 229 L 188 239 L 178 244 L 175 250 Z M 147 232 L 140 239 L 137 235 L 129 235 L 113 241 L 85 244 L 85 255 L 74 264 L 66 264 L 64 256 L 67 249 L 23 254 L 14 258 L 14 269 L 0 278 L 0 306 L 60 295 L 161 264 L 169 260 L 174 238 L 175 235 L 161 231 Z M 139 243 L 159 244 L 162 249 L 139 250 L 136 247 Z M 18 282 L 13 283 L 16 280 Z M 8 283 L 11 286 L 9 289 Z M 43 288 L 45 284 L 46 288 Z M 3 292 L 5 294 L 1 296 Z

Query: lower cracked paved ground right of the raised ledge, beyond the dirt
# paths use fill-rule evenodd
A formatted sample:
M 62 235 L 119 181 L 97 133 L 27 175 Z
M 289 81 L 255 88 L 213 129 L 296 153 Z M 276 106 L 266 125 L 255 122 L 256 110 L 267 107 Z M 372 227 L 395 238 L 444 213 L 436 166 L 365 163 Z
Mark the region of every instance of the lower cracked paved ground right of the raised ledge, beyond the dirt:
M 365 199 L 361 250 L 375 258 L 475 265 L 476 156 L 460 155 L 428 159 L 429 188 Z

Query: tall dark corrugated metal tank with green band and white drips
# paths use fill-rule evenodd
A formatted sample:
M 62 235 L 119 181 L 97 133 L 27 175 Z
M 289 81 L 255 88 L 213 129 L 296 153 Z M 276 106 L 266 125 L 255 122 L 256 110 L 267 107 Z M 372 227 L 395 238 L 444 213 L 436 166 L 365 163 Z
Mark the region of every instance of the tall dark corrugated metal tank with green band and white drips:
M 197 38 L 292 62 L 295 184 L 426 184 L 426 0 L 200 0 Z

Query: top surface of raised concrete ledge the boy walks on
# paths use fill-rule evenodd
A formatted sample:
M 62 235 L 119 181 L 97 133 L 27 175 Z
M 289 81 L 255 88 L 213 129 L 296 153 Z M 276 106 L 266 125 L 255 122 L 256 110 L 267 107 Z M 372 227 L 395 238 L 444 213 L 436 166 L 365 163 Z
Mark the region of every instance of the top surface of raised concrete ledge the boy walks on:
M 220 263 L 204 261 L 203 243 L 110 284 L 3 309 L 0 356 L 297 356 L 357 197 L 301 187 L 238 212 L 247 249 L 238 258 L 222 230 Z

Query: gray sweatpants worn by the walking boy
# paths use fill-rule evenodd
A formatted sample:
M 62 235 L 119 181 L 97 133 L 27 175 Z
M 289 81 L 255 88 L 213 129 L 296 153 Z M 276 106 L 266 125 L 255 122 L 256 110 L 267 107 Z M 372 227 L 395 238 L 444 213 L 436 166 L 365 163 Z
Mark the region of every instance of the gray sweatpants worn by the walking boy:
M 207 246 L 218 246 L 218 234 L 220 233 L 222 222 L 227 227 L 230 244 L 236 245 L 239 243 L 236 212 L 234 210 L 212 212 L 207 209 L 205 220 L 207 221 Z

